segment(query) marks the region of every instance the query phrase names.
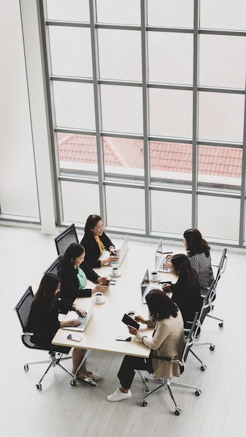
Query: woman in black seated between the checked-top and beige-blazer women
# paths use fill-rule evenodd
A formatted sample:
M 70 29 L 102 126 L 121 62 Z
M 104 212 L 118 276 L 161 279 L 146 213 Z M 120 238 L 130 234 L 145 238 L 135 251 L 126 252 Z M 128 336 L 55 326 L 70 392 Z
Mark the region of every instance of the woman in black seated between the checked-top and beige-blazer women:
M 171 299 L 176 302 L 180 309 L 185 327 L 190 327 L 196 311 L 200 313 L 203 299 L 200 294 L 200 284 L 197 272 L 192 269 L 189 258 L 184 253 L 178 253 L 168 263 L 171 273 L 178 276 L 174 284 L 164 283 L 162 289 L 173 293 Z

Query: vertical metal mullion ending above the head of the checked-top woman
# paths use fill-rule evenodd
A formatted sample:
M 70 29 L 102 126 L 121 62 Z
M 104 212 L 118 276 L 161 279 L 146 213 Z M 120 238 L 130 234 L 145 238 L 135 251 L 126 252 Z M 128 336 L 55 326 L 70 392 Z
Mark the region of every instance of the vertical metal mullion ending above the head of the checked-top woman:
M 199 6 L 200 6 L 200 0 L 194 0 L 193 94 L 192 94 L 192 227 L 193 228 L 197 228 Z

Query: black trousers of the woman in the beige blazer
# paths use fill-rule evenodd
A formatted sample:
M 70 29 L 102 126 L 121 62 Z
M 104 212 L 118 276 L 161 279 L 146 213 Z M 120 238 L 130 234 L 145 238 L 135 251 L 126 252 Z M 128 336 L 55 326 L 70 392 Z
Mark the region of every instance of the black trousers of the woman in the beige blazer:
M 118 379 L 120 380 L 123 388 L 129 389 L 132 385 L 132 381 L 135 376 L 134 369 L 148 370 L 153 373 L 152 359 L 125 355 L 121 364 L 121 369 L 118 371 Z

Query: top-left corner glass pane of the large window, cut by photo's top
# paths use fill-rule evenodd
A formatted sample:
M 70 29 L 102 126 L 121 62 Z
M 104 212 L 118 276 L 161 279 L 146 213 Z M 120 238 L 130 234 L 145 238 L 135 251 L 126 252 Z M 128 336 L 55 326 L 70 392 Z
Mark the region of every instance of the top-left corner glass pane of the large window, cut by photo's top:
M 48 20 L 89 21 L 89 0 L 46 0 Z

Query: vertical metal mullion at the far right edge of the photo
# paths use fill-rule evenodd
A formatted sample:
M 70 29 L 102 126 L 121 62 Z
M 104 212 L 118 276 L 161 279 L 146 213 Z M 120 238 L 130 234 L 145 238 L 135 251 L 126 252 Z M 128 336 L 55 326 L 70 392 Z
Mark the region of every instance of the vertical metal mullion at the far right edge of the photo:
M 246 191 L 246 84 L 245 84 L 245 114 L 243 124 L 243 161 L 242 161 L 242 186 L 240 195 L 240 223 L 239 223 L 239 246 L 243 247 L 245 234 L 245 191 Z

